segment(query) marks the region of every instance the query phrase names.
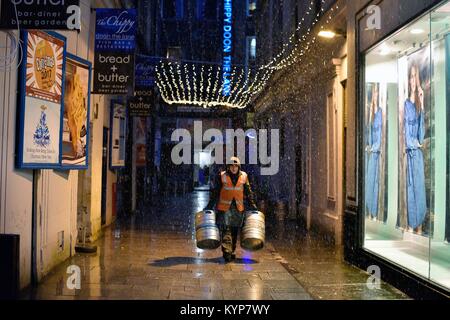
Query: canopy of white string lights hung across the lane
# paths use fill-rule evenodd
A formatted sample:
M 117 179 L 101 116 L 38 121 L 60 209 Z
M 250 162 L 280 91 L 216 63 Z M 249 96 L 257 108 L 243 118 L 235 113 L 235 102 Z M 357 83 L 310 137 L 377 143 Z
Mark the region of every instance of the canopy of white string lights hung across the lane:
M 322 8 L 315 14 L 308 29 L 302 30 L 305 28 L 307 16 L 313 12 L 314 1 L 309 3 L 308 10 L 295 32 L 289 37 L 288 43 L 283 45 L 281 52 L 268 64 L 260 66 L 256 70 L 233 66 L 230 79 L 231 91 L 226 96 L 222 94 L 224 89 L 222 66 L 209 63 L 160 61 L 156 67 L 156 83 L 162 99 L 169 105 L 246 108 L 265 88 L 274 72 L 301 62 L 316 42 L 316 36 L 312 32 L 324 14 L 324 5 L 327 0 L 321 1 Z M 337 4 L 330 8 L 330 14 L 322 23 L 321 30 L 327 30 L 326 27 L 338 8 Z M 303 31 L 303 35 L 296 41 L 296 34 L 301 31 Z

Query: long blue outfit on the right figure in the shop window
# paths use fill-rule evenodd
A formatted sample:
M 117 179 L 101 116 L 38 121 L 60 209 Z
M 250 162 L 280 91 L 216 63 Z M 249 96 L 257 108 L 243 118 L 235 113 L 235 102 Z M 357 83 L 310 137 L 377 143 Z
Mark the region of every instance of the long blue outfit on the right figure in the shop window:
M 425 120 L 422 111 L 417 113 L 416 105 L 409 99 L 405 102 L 404 113 L 406 143 L 406 188 L 408 225 L 415 229 L 422 225 L 427 212 L 425 191 L 425 165 L 423 145 L 425 138 Z

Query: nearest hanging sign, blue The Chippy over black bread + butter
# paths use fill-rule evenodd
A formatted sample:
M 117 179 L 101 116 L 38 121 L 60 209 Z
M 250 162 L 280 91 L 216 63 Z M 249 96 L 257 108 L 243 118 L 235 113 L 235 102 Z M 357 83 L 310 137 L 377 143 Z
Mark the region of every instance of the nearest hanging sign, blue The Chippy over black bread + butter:
M 136 9 L 97 9 L 94 93 L 134 94 Z

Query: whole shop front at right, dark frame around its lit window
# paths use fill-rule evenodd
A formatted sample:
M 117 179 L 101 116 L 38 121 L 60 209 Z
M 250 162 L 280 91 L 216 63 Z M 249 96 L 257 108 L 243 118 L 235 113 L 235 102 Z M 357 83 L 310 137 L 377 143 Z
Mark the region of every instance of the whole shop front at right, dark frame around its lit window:
M 347 258 L 413 297 L 449 296 L 450 1 L 369 5 L 356 15 L 357 245 Z

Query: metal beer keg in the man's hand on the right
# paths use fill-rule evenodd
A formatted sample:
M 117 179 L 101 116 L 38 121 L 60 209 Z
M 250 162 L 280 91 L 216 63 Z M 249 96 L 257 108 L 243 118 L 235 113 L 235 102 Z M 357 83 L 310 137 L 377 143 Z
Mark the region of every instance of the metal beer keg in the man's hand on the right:
M 266 223 L 264 213 L 248 211 L 245 213 L 245 224 L 241 233 L 241 247 L 256 251 L 264 247 L 266 236 Z

